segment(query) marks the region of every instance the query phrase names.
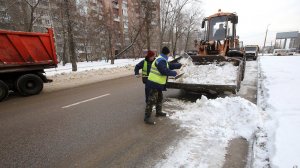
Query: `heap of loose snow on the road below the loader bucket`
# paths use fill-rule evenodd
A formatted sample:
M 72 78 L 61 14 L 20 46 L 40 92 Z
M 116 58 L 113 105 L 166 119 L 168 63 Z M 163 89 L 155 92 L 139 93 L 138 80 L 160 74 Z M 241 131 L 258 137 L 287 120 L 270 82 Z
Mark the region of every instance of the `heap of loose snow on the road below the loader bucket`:
M 195 103 L 171 99 L 168 105 L 184 108 L 173 111 L 171 119 L 188 135 L 167 151 L 167 158 L 156 167 L 222 167 L 228 142 L 237 137 L 247 140 L 260 125 L 260 113 L 253 103 L 240 97 Z

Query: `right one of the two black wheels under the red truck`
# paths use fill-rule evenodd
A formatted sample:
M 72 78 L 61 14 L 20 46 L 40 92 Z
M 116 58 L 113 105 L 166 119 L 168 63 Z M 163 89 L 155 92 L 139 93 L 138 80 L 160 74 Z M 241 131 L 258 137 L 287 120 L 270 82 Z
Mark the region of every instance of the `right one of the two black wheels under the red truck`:
M 43 87 L 43 80 L 35 74 L 25 74 L 17 80 L 17 90 L 23 96 L 39 94 Z

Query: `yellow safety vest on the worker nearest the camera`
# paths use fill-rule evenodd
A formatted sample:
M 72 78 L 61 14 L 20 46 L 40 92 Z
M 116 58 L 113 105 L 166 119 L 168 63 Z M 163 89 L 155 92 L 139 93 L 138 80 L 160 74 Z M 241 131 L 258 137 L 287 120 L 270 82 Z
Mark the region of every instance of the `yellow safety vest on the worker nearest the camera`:
M 167 76 L 166 75 L 162 75 L 157 67 L 156 67 L 156 61 L 157 59 L 159 58 L 162 58 L 164 60 L 166 60 L 164 57 L 162 57 L 161 55 L 158 56 L 152 63 L 151 65 L 151 70 L 150 70 L 150 73 L 149 73 L 149 77 L 148 77 L 148 80 L 154 82 L 154 83 L 158 83 L 158 84 L 161 84 L 161 85 L 165 85 L 167 83 Z M 169 68 L 169 64 L 168 64 L 168 61 L 166 60 L 167 62 L 167 68 Z

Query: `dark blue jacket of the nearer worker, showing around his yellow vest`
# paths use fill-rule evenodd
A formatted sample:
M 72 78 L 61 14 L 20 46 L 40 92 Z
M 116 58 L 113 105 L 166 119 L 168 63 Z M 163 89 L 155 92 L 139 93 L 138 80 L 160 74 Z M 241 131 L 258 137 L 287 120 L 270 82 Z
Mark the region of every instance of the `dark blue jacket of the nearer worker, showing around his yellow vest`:
M 156 60 L 156 66 L 158 71 L 162 74 L 162 75 L 166 75 L 166 76 L 176 76 L 177 73 L 176 71 L 172 71 L 173 69 L 179 69 L 181 67 L 180 63 L 169 63 L 169 68 L 167 67 L 167 62 L 166 60 L 168 60 L 168 56 L 164 55 L 164 54 L 160 54 L 162 57 L 164 57 L 165 59 L 157 59 Z M 146 83 L 146 87 L 150 88 L 150 89 L 157 89 L 159 91 L 165 91 L 166 89 L 166 85 L 160 85 L 158 83 L 152 82 L 152 81 L 147 81 Z

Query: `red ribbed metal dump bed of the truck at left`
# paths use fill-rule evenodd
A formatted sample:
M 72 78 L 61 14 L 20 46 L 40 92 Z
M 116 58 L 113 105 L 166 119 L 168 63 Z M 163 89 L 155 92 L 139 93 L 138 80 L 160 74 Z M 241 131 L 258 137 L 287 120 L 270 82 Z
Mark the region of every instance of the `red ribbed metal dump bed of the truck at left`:
M 53 30 L 48 33 L 0 30 L 0 73 L 57 66 Z

